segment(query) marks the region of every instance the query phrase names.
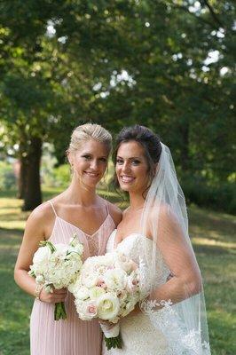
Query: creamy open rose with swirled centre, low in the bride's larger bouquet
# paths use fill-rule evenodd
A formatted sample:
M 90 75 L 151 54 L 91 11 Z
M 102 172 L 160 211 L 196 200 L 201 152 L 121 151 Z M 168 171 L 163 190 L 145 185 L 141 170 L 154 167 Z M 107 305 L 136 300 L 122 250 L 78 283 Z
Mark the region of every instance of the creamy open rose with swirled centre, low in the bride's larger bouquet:
M 98 318 L 100 319 L 112 320 L 117 316 L 120 310 L 118 298 L 111 293 L 106 293 L 98 297 L 96 304 L 98 308 Z

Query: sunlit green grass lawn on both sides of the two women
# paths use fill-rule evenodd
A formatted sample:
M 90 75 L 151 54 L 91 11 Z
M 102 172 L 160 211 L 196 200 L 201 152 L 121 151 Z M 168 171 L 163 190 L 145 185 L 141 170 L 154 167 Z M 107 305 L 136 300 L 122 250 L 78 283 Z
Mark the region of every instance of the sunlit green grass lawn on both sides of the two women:
M 55 190 L 45 190 L 51 198 Z M 110 201 L 119 201 L 106 193 Z M 27 212 L 12 193 L 0 193 L 0 355 L 29 355 L 29 315 L 33 299 L 13 280 Z M 236 220 L 232 216 L 189 209 L 190 234 L 205 284 L 212 355 L 236 354 Z M 50 354 L 49 354 L 50 355 Z

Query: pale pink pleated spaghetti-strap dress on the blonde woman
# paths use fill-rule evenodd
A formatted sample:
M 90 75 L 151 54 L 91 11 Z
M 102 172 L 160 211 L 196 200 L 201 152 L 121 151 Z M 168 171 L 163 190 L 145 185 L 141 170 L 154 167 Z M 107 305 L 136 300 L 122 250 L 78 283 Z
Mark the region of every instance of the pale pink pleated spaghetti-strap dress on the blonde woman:
M 51 203 L 51 201 L 50 201 Z M 92 235 L 56 215 L 50 241 L 68 243 L 74 233 L 83 242 L 84 260 L 89 256 L 103 255 L 106 241 L 114 231 L 114 220 L 107 208 L 107 217 Z M 74 296 L 67 293 L 65 301 L 67 319 L 54 320 L 54 304 L 35 300 L 30 318 L 31 355 L 100 355 L 102 333 L 97 319 L 84 321 L 75 311 Z

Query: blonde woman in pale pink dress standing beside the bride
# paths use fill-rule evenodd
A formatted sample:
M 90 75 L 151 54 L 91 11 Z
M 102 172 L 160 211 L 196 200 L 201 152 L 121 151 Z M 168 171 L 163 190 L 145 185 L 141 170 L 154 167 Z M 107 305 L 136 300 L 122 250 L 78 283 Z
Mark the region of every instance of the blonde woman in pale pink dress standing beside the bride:
M 122 219 L 113 204 L 96 193 L 111 150 L 110 133 L 98 124 L 83 124 L 71 136 L 67 150 L 73 172 L 67 190 L 38 206 L 28 217 L 15 265 L 17 284 L 35 296 L 30 319 L 31 355 L 100 355 L 102 335 L 97 319 L 82 321 L 66 289 L 47 294 L 28 275 L 39 241 L 68 243 L 74 233 L 83 242 L 83 256 L 102 255 L 106 241 Z M 67 319 L 54 321 L 54 304 L 65 301 Z

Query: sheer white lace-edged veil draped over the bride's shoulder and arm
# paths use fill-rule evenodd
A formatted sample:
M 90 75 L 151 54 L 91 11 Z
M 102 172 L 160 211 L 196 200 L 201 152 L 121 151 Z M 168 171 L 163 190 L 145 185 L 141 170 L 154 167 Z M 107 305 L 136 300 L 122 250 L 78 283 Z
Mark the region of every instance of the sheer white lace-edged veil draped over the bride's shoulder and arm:
M 151 260 L 150 249 L 140 250 L 139 254 L 142 312 L 167 339 L 168 355 L 210 355 L 204 292 L 188 235 L 185 196 L 178 184 L 169 148 L 162 143 L 160 161 L 142 212 L 140 233 L 147 237 L 152 235 L 153 239 Z M 186 263 L 183 255 L 187 256 Z M 181 280 L 181 286 L 175 283 L 175 274 L 169 266 L 173 265 L 173 259 L 177 270 L 185 269 L 186 277 Z M 189 279 L 188 270 L 191 270 Z M 191 281 L 192 275 L 199 280 L 195 284 Z M 161 294 L 158 296 L 158 289 L 161 292 L 167 283 L 173 290 L 174 300 L 168 292 L 162 294 L 164 298 L 160 299 Z

